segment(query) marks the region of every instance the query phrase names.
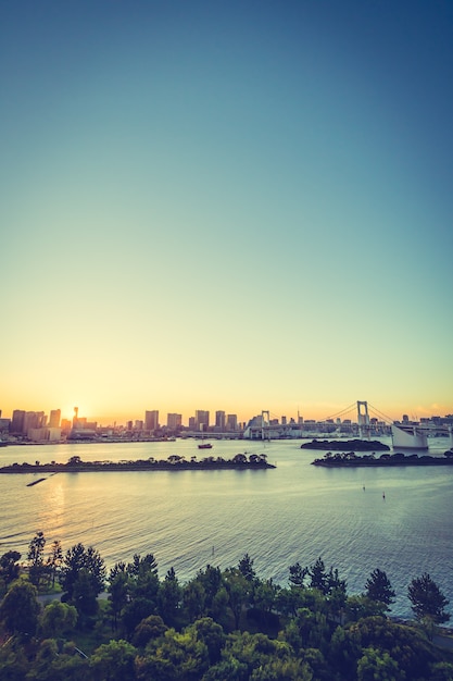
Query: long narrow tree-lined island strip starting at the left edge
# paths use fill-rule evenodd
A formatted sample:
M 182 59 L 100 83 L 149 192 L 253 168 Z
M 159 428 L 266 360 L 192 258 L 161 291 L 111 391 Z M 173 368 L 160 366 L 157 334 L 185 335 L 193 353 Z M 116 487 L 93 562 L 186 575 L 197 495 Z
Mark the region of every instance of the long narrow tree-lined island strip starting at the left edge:
M 275 468 L 266 460 L 265 454 L 237 454 L 232 459 L 205 457 L 200 461 L 192 457 L 189 461 L 178 455 L 167 459 L 138 459 L 136 461 L 83 461 L 73 456 L 67 463 L 51 461 L 50 463 L 12 463 L 0 468 L 0 473 L 87 473 L 105 471 L 185 471 L 185 470 L 263 470 Z M 37 482 L 41 482 L 40 479 Z M 32 483 L 34 484 L 34 483 Z M 36 483 L 35 483 L 36 484 Z

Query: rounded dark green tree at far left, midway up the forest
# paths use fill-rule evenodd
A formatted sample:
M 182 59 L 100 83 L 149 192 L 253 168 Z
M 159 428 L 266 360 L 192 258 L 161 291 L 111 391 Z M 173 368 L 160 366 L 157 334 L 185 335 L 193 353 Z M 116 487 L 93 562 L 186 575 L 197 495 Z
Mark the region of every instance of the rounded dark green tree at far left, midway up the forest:
M 0 621 L 11 634 L 33 636 L 38 626 L 37 590 L 30 582 L 14 582 L 0 604 Z

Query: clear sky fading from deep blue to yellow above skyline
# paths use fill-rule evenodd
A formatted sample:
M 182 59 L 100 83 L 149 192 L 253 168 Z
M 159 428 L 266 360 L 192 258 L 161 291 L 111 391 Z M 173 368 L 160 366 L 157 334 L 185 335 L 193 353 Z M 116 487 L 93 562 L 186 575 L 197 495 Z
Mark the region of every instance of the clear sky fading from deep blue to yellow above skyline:
M 453 3 L 0 5 L 0 409 L 453 412 Z

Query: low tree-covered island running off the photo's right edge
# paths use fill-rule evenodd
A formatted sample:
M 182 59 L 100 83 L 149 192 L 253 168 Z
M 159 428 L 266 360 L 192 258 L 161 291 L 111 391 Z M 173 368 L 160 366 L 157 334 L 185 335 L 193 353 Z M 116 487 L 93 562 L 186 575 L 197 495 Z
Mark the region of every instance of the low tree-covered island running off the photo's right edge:
M 405 455 L 381 454 L 375 457 L 374 454 L 364 455 L 362 457 L 354 451 L 343 451 L 341 454 L 332 454 L 327 451 L 323 459 L 312 461 L 313 466 L 324 466 L 326 468 L 356 468 L 356 467 L 376 467 L 376 466 L 453 466 L 453 450 L 449 449 L 443 453 L 443 457 L 431 457 L 429 455 L 418 456 L 417 454 Z

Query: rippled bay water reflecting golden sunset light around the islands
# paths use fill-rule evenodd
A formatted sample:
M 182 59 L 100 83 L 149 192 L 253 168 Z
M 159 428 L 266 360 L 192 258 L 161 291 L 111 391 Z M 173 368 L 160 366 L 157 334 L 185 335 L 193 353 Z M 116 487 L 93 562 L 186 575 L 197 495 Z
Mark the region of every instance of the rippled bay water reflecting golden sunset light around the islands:
M 350 594 L 364 590 L 372 570 L 386 570 L 401 616 L 411 615 L 408 582 L 429 572 L 453 615 L 453 467 L 329 470 L 310 466 L 322 454 L 300 444 L 219 441 L 207 453 L 265 453 L 277 466 L 265 471 L 59 473 L 33 487 L 42 474 L 0 475 L 0 554 L 25 556 L 42 530 L 64 550 L 93 545 L 108 567 L 153 553 L 161 577 L 173 566 L 185 581 L 207 562 L 224 569 L 249 553 L 261 578 L 282 585 L 290 565 L 320 556 Z M 430 453 L 446 448 L 441 439 Z M 193 441 L 9 446 L 0 465 L 74 454 L 86 461 L 205 455 Z

